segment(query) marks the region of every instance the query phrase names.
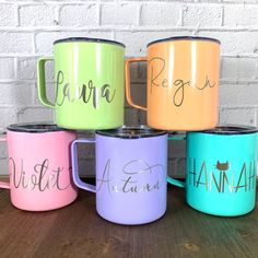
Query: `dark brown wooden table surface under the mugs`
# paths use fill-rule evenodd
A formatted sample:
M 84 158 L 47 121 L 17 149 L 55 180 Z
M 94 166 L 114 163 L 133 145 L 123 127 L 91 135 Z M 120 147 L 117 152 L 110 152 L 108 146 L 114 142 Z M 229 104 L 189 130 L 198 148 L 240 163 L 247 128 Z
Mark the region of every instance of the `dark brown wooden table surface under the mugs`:
M 12 207 L 0 190 L 0 257 L 258 257 L 258 210 L 218 218 L 190 209 L 183 189 L 168 187 L 167 212 L 139 226 L 113 224 L 80 191 L 72 204 L 48 212 Z

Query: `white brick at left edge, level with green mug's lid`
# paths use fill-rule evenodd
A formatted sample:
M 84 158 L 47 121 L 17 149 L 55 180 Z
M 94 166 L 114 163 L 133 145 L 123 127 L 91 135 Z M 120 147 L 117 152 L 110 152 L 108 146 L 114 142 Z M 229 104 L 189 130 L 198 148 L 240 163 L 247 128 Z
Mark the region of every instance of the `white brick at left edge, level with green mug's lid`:
M 0 54 L 7 55 L 26 55 L 33 52 L 33 34 L 32 33 L 0 33 Z

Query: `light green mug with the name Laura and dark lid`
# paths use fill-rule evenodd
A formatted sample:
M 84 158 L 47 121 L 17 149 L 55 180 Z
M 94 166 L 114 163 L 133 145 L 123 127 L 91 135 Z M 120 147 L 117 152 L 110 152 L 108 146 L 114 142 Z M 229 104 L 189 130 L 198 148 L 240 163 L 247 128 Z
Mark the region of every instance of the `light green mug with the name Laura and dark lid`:
M 55 103 L 47 98 L 45 63 L 55 62 Z M 125 46 L 72 37 L 54 43 L 54 57 L 37 62 L 38 96 L 68 129 L 113 129 L 124 124 Z

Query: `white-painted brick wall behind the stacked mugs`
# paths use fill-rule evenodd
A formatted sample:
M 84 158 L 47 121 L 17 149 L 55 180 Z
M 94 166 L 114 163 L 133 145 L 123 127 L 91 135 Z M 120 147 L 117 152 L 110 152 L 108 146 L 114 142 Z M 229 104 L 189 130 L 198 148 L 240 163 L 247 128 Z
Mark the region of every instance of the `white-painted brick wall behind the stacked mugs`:
M 36 60 L 51 55 L 52 42 L 69 36 L 115 39 L 126 55 L 144 56 L 149 42 L 178 35 L 221 40 L 220 120 L 258 126 L 257 0 L 0 0 L 0 131 L 12 122 L 51 120 L 37 99 Z M 54 97 L 52 66 L 47 69 Z M 145 103 L 145 64 L 132 68 L 133 97 Z M 145 114 L 126 105 L 127 124 Z M 4 144 L 3 144 L 4 145 Z M 0 146 L 0 174 L 7 152 Z M 81 156 L 82 174 L 93 174 L 93 151 Z M 183 176 L 185 143 L 169 143 L 169 173 Z

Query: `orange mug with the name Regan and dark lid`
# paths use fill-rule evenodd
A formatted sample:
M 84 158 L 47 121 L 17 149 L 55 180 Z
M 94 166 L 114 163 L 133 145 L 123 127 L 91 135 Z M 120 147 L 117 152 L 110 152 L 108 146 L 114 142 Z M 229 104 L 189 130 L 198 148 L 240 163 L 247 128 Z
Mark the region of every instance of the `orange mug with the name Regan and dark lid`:
M 148 62 L 146 107 L 133 103 L 130 63 Z M 220 42 L 206 37 L 171 37 L 148 45 L 146 58 L 126 61 L 128 103 L 146 110 L 152 128 L 175 131 L 218 125 Z

